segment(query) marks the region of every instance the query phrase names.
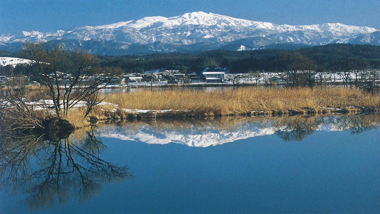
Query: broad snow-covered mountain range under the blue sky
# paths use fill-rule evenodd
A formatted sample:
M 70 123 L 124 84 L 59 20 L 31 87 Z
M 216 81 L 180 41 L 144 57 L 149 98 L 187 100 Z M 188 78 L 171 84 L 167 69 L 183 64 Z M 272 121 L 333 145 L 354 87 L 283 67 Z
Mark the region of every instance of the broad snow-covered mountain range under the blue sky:
M 60 42 L 67 49 L 81 46 L 95 54 L 143 54 L 149 52 L 199 52 L 209 49 L 249 50 L 287 43 L 319 45 L 368 39 L 360 36 L 374 34 L 371 44 L 378 43 L 377 29 L 334 24 L 276 25 L 236 19 L 213 13 L 194 12 L 174 17 L 144 17 L 109 25 L 84 26 L 53 33 L 37 31 L 0 36 L 0 49 L 9 50 L 25 41 Z M 244 39 L 251 41 L 247 44 Z M 243 47 L 244 46 L 244 47 Z

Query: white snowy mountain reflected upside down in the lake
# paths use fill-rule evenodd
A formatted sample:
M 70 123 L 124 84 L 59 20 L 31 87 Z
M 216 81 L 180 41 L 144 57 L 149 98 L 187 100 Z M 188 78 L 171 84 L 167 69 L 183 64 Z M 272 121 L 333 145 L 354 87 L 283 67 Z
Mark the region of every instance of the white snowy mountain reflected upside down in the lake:
M 234 142 L 239 139 L 247 139 L 255 136 L 273 135 L 278 128 L 257 127 L 258 124 L 238 124 L 239 131 L 220 130 L 218 127 L 191 128 L 171 127 L 157 130 L 149 125 L 137 125 L 132 127 L 116 127 L 107 125 L 98 128 L 99 135 L 106 138 L 116 138 L 125 141 L 138 141 L 148 144 L 179 143 L 187 146 L 207 147 Z

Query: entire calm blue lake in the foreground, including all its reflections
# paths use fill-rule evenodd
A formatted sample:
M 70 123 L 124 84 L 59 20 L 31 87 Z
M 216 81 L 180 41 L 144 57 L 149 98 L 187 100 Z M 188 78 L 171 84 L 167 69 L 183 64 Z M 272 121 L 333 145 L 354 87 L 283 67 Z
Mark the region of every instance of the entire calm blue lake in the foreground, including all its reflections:
M 116 122 L 3 139 L 0 213 L 380 213 L 380 115 Z

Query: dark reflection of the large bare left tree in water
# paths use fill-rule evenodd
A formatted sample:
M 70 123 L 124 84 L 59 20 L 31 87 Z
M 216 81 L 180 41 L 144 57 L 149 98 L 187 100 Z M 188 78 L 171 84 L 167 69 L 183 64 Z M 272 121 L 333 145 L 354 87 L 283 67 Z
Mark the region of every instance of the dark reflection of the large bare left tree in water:
M 75 142 L 70 137 L 53 142 L 44 136 L 1 135 L 2 183 L 24 190 L 27 204 L 41 208 L 71 198 L 86 200 L 102 183 L 130 178 L 128 168 L 100 158 L 106 146 L 94 128 Z

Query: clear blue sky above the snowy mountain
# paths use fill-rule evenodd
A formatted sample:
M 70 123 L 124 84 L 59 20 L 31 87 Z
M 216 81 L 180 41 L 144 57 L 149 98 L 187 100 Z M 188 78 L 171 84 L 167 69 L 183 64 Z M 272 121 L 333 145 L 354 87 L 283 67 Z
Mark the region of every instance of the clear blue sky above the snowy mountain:
M 339 22 L 380 29 L 380 0 L 2 0 L 0 35 L 21 30 L 55 32 L 195 11 L 274 24 Z

